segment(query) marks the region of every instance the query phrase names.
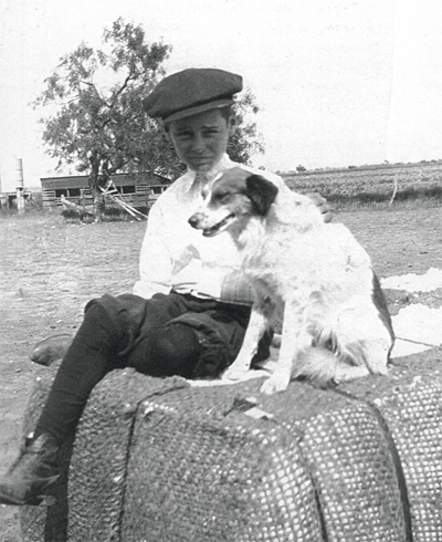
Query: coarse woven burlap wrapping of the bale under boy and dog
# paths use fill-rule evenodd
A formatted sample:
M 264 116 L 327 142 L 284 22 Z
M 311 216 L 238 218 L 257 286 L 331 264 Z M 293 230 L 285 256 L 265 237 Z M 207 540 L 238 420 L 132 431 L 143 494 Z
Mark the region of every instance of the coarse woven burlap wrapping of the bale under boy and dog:
M 94 390 L 24 542 L 442 540 L 440 351 L 335 389 L 193 388 L 131 369 Z M 29 431 L 48 394 L 44 368 Z M 256 399 L 256 402 L 253 400 Z

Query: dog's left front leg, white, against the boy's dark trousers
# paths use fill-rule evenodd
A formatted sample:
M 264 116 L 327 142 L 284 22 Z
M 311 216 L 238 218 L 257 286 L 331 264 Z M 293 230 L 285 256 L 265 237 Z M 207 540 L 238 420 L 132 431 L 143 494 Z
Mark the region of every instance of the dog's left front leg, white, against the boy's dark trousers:
M 223 381 L 239 381 L 249 371 L 253 356 L 257 352 L 260 338 L 266 330 L 266 322 L 264 314 L 252 309 L 241 350 L 235 361 L 222 375 Z

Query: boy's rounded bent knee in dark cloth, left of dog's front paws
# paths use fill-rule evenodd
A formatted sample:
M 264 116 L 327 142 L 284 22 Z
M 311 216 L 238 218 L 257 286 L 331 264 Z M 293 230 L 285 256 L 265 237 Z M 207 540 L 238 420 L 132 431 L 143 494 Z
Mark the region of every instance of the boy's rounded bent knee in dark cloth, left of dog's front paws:
M 150 376 L 194 376 L 201 354 L 196 332 L 183 324 L 155 330 L 130 354 L 129 365 Z

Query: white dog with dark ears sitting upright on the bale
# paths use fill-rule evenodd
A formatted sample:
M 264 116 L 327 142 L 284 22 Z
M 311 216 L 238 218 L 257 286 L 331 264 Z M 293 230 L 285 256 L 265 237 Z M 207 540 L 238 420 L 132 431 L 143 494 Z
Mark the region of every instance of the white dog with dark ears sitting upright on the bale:
M 229 233 L 254 303 L 240 353 L 222 376 L 249 371 L 259 340 L 282 322 L 278 361 L 261 392 L 292 377 L 319 385 L 388 374 L 391 317 L 370 258 L 340 223 L 325 223 L 307 196 L 232 168 L 202 190 L 189 223 L 204 237 Z

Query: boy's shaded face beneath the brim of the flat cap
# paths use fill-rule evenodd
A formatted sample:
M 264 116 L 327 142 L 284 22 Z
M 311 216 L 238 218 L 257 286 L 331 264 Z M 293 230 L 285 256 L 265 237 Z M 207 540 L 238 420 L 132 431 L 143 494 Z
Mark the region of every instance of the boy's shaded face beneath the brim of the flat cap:
M 227 119 L 219 110 L 210 110 L 172 122 L 168 136 L 178 158 L 203 174 L 221 159 L 234 129 L 233 116 Z

